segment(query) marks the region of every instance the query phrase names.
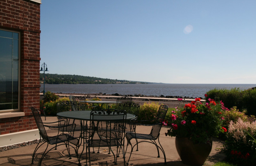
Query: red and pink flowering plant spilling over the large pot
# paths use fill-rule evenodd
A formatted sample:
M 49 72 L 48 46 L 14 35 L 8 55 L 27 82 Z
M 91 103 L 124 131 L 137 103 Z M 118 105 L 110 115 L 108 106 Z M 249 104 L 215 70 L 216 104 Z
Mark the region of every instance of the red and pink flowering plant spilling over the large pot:
M 225 132 L 226 128 L 222 127 L 224 104 L 212 99 L 205 104 L 200 101 L 200 98 L 196 98 L 183 108 L 176 107 L 168 119 L 171 128 L 165 135 L 187 137 L 194 143 L 201 143 Z

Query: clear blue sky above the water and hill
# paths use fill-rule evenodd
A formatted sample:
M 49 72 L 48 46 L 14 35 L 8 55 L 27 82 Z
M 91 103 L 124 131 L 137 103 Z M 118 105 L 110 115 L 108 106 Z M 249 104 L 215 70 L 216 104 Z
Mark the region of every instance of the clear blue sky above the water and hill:
M 255 0 L 42 0 L 48 73 L 256 83 Z

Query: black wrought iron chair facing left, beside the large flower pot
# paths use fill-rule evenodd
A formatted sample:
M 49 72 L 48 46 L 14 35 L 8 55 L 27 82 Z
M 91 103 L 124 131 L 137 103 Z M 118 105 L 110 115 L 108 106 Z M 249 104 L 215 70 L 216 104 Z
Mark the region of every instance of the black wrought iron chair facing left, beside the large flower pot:
M 128 144 L 130 144 L 131 147 L 132 147 L 130 157 L 129 157 L 127 163 L 126 163 L 127 165 L 129 164 L 129 160 L 131 158 L 133 148 L 135 147 L 135 145 L 138 145 L 140 142 L 149 142 L 149 143 L 154 144 L 157 148 L 157 153 L 158 153 L 157 157 L 160 157 L 160 155 L 159 155 L 159 149 L 160 149 L 164 154 L 164 163 L 166 164 L 166 157 L 165 157 L 164 149 L 163 149 L 163 147 L 162 147 L 162 145 L 160 144 L 160 141 L 159 141 L 159 135 L 160 135 L 161 127 L 163 125 L 162 122 L 164 121 L 167 110 L 168 110 L 167 105 L 161 105 L 158 109 L 154 124 L 140 124 L 140 125 L 145 125 L 145 126 L 152 126 L 151 132 L 149 134 L 136 133 L 136 126 L 135 126 L 135 132 L 134 133 L 127 132 L 125 134 L 125 137 L 127 139 L 127 147 L 128 147 Z M 139 124 L 139 123 L 137 123 L 137 124 Z M 132 146 L 132 143 L 131 143 L 132 139 L 136 140 L 136 144 L 133 145 L 133 146 Z M 137 140 L 139 140 L 139 139 L 142 140 L 142 141 L 138 142 Z M 159 143 L 160 146 L 157 145 L 156 140 L 158 140 L 158 143 Z M 126 150 L 127 150 L 127 147 L 126 147 Z M 126 152 L 126 150 L 125 150 L 125 152 Z

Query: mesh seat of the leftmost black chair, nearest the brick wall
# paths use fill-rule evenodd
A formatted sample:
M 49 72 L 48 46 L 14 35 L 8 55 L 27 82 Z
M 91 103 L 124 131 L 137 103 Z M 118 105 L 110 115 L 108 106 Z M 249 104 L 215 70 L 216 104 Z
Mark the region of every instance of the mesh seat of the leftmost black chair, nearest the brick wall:
M 69 141 L 73 145 L 78 145 L 78 139 L 68 135 L 68 134 L 60 134 L 57 136 L 49 137 L 49 144 L 54 145 L 62 142 Z

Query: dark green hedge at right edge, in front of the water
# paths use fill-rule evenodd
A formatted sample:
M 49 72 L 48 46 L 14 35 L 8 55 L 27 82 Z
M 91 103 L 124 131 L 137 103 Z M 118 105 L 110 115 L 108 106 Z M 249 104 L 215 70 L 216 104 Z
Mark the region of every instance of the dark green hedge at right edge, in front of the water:
M 250 90 L 234 89 L 212 89 L 206 93 L 208 98 L 218 99 L 225 103 L 227 108 L 236 106 L 239 110 L 247 110 L 247 115 L 256 116 L 256 88 Z

